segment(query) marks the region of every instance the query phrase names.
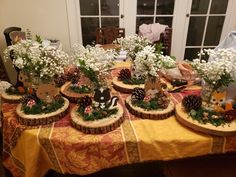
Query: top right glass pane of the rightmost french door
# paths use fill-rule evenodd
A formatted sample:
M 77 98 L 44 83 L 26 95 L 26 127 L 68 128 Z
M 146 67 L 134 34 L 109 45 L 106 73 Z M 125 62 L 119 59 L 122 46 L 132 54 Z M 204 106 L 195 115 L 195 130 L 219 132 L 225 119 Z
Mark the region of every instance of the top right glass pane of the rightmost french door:
M 225 14 L 228 6 L 228 0 L 212 0 L 211 14 Z

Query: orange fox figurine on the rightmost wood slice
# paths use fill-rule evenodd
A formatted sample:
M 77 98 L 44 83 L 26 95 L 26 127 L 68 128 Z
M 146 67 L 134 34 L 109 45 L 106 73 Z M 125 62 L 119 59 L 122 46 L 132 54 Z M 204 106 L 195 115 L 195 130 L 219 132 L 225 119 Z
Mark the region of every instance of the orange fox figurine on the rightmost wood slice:
M 216 112 L 225 112 L 226 91 L 214 91 L 210 102 Z

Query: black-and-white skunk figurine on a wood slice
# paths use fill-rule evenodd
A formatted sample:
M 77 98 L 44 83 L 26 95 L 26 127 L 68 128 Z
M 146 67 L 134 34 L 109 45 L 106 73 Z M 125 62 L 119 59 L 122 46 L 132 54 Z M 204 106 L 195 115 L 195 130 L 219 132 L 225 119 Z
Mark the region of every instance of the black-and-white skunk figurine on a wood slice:
M 118 97 L 111 97 L 109 88 L 99 88 L 95 89 L 94 91 L 94 101 L 96 107 L 100 109 L 104 109 L 106 107 L 108 109 L 111 109 L 112 107 L 117 105 Z

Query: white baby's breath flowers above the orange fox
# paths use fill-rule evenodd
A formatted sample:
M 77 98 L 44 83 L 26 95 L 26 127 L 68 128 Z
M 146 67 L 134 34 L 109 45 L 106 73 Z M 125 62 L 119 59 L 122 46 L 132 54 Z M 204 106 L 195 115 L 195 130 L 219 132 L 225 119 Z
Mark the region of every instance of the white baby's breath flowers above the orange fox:
M 217 51 L 205 49 L 200 55 L 208 54 L 211 60 L 194 59 L 191 65 L 199 76 L 214 90 L 228 86 L 236 80 L 236 50 L 219 49 Z

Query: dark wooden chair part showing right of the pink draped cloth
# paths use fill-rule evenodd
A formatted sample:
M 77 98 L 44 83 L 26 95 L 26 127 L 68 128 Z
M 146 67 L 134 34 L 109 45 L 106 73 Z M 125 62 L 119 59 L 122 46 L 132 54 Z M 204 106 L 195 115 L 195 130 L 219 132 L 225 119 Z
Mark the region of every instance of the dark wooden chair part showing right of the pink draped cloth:
M 162 52 L 164 55 L 170 55 L 171 52 L 171 39 L 172 39 L 172 28 L 167 27 L 163 33 L 160 35 L 160 40 L 154 42 L 155 44 L 157 43 L 162 43 L 163 44 L 163 49 Z

